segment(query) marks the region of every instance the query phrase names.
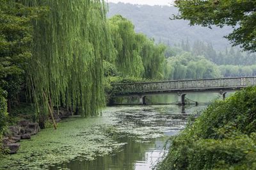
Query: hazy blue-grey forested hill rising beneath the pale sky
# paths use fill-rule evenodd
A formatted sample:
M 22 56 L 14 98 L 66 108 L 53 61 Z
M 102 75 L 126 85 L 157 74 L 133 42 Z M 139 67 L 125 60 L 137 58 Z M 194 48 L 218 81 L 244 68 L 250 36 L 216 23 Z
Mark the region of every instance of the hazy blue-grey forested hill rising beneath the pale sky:
M 196 40 L 211 42 L 213 47 L 218 50 L 225 50 L 230 47 L 230 42 L 223 38 L 231 32 L 230 27 L 223 29 L 201 26 L 189 26 L 186 20 L 170 20 L 172 14 L 178 12 L 173 6 L 148 6 L 124 3 L 109 3 L 108 16 L 120 14 L 132 21 L 138 33 L 144 33 L 154 38 L 156 42 L 163 42 L 169 45 L 180 43 L 188 39 L 189 42 Z

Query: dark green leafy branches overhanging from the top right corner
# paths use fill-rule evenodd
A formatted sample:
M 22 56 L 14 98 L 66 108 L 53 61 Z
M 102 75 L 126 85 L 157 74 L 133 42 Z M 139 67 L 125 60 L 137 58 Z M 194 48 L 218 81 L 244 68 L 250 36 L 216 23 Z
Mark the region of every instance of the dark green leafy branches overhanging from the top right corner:
M 256 52 L 256 1 L 176 0 L 175 6 L 179 14 L 174 19 L 189 20 L 193 26 L 232 26 L 234 30 L 227 36 L 228 40 L 244 50 Z

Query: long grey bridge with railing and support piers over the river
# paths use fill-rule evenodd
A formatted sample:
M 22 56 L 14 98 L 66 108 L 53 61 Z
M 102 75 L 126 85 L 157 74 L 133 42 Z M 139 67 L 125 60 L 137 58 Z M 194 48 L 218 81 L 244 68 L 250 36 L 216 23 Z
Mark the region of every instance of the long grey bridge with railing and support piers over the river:
M 185 104 L 186 93 L 211 91 L 225 95 L 228 91 L 256 86 L 256 77 L 228 77 L 221 79 L 196 79 L 159 82 L 132 82 L 113 84 L 115 97 L 139 97 L 146 104 L 146 97 L 164 93 L 177 93 L 179 104 Z

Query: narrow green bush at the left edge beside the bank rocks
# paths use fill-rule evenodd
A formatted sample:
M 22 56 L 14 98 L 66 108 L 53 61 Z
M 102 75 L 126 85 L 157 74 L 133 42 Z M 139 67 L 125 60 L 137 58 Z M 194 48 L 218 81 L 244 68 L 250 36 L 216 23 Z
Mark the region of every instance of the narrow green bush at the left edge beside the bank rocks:
M 0 88 L 0 156 L 3 153 L 3 133 L 6 130 L 6 116 L 7 116 L 7 102 L 6 102 L 6 93 L 3 89 Z

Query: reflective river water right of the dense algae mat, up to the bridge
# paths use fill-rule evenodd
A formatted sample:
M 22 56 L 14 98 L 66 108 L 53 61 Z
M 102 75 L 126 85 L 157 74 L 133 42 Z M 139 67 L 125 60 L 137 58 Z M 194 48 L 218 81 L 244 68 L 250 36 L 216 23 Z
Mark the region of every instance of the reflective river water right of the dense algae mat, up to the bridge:
M 112 116 L 116 119 L 115 127 L 120 132 L 127 134 L 116 139 L 120 143 L 127 143 L 122 147 L 122 150 L 116 151 L 113 155 L 97 157 L 91 161 L 73 160 L 50 169 L 152 169 L 152 166 L 164 154 L 163 146 L 168 137 L 179 133 L 186 126 L 191 113 L 200 111 L 204 107 L 186 106 L 185 108 L 177 105 L 118 107 Z M 164 134 L 164 136 L 154 139 L 152 137 L 147 138 L 152 130 L 154 133 Z M 145 135 L 147 140 L 138 140 L 138 135 L 142 135 L 142 137 Z

